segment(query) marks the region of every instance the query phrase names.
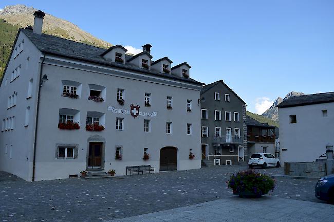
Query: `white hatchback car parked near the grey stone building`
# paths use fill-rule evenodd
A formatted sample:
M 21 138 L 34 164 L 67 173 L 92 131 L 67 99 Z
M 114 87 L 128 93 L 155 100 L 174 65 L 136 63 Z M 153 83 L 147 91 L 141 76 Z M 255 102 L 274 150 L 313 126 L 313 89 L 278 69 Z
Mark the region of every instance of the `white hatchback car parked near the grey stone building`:
M 267 167 L 281 167 L 281 162 L 274 155 L 270 153 L 257 153 L 252 154 L 248 160 L 248 167 L 258 167 L 261 166 L 263 169 Z

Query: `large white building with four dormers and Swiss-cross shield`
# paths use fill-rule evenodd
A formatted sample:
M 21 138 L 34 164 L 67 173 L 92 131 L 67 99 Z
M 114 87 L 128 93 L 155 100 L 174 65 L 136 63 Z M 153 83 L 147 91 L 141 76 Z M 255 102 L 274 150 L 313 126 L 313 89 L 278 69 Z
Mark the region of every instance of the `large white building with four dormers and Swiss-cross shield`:
M 42 34 L 45 14 L 34 15 L 34 28 L 18 31 L 1 81 L 0 171 L 31 181 L 92 168 L 200 168 L 203 84 L 189 78 L 187 63 L 151 61 L 150 44 L 131 56 L 121 45 Z

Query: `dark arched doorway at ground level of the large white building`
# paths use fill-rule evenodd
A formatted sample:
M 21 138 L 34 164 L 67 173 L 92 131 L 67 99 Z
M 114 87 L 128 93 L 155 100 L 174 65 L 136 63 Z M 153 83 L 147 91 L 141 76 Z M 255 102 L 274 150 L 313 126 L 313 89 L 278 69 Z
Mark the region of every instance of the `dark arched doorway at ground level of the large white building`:
M 177 170 L 177 148 L 166 146 L 160 150 L 160 171 Z

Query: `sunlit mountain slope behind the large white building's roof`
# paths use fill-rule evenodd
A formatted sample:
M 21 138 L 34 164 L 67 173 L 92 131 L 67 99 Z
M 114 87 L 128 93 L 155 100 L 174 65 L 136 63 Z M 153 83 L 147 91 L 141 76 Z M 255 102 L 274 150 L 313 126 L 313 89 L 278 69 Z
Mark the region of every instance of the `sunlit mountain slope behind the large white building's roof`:
M 0 9 L 0 78 L 6 66 L 18 28 L 33 26 L 33 13 L 36 10 L 25 5 L 6 6 L 4 9 Z M 80 29 L 77 25 L 47 13 L 44 17 L 42 31 L 46 34 L 101 48 L 112 46 L 112 44 Z

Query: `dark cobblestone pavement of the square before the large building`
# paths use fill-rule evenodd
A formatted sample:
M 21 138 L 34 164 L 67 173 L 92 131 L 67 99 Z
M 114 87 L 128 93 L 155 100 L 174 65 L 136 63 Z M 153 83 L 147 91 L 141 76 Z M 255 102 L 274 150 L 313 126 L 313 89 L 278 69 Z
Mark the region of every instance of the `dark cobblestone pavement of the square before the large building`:
M 0 172 L 0 221 L 104 221 L 230 198 L 226 181 L 246 165 L 119 176 L 26 182 Z M 283 174 L 283 168 L 256 169 Z M 273 197 L 321 202 L 317 180 L 277 178 Z

